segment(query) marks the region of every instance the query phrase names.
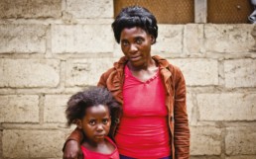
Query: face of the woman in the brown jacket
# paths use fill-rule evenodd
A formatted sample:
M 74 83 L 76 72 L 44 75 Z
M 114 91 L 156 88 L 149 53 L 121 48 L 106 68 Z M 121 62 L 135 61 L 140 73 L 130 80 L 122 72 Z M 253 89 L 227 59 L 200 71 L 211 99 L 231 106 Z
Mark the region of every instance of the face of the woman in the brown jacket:
M 124 55 L 135 68 L 147 66 L 151 59 L 153 36 L 140 27 L 125 28 L 120 35 L 121 48 Z

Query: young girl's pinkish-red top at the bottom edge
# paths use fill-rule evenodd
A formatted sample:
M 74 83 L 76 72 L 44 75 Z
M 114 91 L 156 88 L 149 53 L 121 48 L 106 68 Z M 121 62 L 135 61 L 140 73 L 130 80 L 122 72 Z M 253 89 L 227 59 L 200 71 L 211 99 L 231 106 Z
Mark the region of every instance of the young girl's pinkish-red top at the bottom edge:
M 106 137 L 106 139 L 115 146 L 115 150 L 111 154 L 93 152 L 86 149 L 84 146 L 80 146 L 83 154 L 83 159 L 120 159 L 115 143 L 109 137 Z

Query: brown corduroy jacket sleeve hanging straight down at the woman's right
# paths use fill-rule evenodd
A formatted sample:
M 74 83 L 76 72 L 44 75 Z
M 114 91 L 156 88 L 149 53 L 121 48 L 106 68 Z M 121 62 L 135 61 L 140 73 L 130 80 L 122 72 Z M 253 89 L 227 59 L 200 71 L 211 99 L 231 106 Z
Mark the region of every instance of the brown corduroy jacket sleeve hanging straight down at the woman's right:
M 186 82 L 182 71 L 175 69 L 175 102 L 174 102 L 174 120 L 175 120 L 175 156 L 176 159 L 190 158 L 190 128 L 187 114 Z

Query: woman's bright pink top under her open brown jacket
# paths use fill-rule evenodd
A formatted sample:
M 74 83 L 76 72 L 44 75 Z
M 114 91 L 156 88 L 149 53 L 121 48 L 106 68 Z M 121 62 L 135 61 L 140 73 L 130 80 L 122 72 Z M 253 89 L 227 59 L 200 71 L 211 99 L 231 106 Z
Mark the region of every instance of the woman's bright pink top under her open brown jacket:
M 115 136 L 120 154 L 133 158 L 170 156 L 168 110 L 159 72 L 141 82 L 125 67 L 123 116 Z

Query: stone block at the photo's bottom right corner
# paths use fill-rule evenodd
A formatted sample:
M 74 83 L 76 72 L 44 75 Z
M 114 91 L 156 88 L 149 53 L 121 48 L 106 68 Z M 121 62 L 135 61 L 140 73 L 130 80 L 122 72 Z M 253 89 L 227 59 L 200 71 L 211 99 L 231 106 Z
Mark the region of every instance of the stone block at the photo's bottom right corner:
M 227 128 L 225 150 L 227 155 L 256 155 L 255 127 Z

